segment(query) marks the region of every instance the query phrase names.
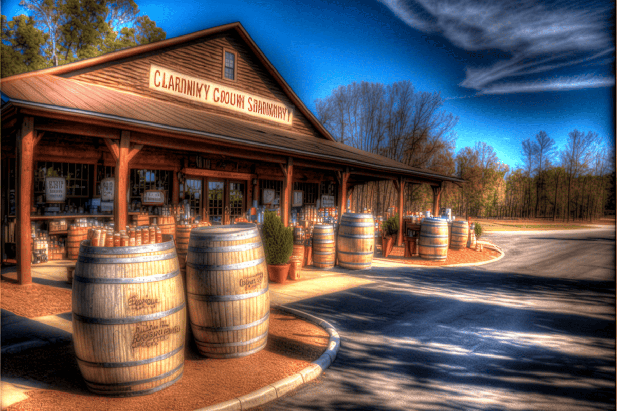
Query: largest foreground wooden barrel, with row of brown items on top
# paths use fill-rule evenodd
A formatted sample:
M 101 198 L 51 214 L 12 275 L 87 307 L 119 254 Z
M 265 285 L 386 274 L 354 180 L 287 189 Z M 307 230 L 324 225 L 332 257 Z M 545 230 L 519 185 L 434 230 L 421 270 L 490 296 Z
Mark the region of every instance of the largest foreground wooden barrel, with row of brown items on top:
M 73 346 L 90 391 L 150 394 L 180 380 L 186 304 L 173 240 L 82 241 L 73 273 Z

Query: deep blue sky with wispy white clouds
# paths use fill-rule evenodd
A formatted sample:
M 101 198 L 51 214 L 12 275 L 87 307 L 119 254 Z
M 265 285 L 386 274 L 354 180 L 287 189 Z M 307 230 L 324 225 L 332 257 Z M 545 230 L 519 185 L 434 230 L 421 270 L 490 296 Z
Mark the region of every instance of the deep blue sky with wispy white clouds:
M 2 0 L 11 19 L 24 10 Z M 458 149 L 485 141 L 521 164 L 540 130 L 615 144 L 613 1 L 137 1 L 167 38 L 239 21 L 292 89 L 313 101 L 352 81 L 441 91 Z

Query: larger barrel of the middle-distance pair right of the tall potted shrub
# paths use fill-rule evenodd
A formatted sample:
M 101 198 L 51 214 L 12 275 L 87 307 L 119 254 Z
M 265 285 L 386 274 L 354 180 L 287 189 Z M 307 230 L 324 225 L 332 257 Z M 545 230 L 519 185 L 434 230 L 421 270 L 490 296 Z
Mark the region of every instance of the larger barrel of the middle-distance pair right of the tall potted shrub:
M 370 268 L 375 251 L 375 220 L 371 214 L 344 213 L 339 224 L 337 257 L 343 268 Z

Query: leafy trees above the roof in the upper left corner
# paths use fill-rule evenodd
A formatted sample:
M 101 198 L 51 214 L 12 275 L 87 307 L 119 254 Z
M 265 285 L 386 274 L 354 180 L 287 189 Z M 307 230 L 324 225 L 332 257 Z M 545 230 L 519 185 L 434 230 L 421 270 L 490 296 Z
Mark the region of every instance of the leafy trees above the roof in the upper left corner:
M 0 77 L 162 40 L 133 0 L 22 0 L 30 16 L 0 16 Z

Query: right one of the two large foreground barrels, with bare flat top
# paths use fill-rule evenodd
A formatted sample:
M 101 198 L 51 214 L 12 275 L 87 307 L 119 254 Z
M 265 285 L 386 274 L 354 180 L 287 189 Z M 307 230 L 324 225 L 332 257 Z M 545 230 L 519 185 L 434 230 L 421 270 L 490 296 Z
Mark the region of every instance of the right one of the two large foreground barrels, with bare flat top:
M 243 357 L 265 347 L 268 267 L 254 223 L 196 227 L 186 254 L 191 329 L 202 355 Z

